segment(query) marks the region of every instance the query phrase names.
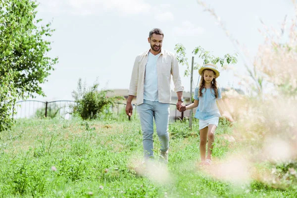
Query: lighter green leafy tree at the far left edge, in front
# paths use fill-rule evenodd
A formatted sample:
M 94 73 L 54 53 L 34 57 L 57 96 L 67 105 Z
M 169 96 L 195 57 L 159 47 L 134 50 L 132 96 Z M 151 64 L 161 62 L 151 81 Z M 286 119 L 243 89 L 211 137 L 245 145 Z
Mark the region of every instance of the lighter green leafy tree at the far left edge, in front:
M 23 92 L 16 89 L 14 78 L 17 75 L 12 67 L 22 60 L 13 55 L 22 37 L 28 35 L 32 26 L 34 7 L 28 0 L 0 1 L 0 131 L 7 130 L 13 122 L 13 107 Z

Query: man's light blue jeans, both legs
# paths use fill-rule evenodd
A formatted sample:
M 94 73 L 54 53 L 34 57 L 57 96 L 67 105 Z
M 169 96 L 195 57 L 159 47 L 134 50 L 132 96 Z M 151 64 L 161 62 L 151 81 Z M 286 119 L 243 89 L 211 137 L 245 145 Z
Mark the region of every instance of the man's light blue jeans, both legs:
M 161 143 L 160 150 L 166 152 L 169 149 L 169 107 L 170 104 L 149 100 L 144 100 L 144 103 L 137 107 L 143 131 L 145 158 L 153 157 L 153 118 L 156 124 L 157 135 Z

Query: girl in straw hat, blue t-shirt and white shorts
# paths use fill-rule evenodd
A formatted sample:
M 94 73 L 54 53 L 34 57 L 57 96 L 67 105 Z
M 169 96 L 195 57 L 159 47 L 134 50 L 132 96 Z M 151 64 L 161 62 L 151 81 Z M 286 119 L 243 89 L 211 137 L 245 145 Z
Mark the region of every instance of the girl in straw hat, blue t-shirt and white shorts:
M 201 80 L 199 87 L 195 88 L 194 103 L 182 107 L 180 111 L 186 109 L 197 108 L 195 117 L 199 119 L 199 131 L 200 131 L 200 156 L 201 164 L 211 164 L 211 152 L 214 142 L 214 132 L 219 123 L 219 117 L 221 116 L 216 101 L 223 110 L 223 117 L 226 117 L 229 121 L 233 122 L 232 116 L 225 110 L 225 105 L 222 100 L 221 90 L 217 86 L 216 78 L 219 77 L 220 72 L 216 65 L 205 64 L 199 69 Z M 206 143 L 208 138 L 208 149 L 206 155 Z

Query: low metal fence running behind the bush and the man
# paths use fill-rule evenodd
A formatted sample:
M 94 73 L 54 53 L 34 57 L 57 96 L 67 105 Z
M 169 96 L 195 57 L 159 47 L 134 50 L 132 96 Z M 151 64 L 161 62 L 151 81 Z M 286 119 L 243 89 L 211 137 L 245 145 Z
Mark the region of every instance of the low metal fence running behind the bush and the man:
M 13 118 L 42 118 L 42 117 L 62 117 L 64 119 L 71 118 L 72 108 L 75 105 L 75 101 L 72 100 L 56 100 L 56 101 L 39 101 L 39 100 L 24 100 L 18 101 L 15 107 L 15 115 Z M 136 104 L 133 104 L 133 116 L 137 116 Z M 126 103 L 116 102 L 109 111 L 116 113 L 117 115 L 125 113 Z M 106 111 L 107 112 L 107 111 Z M 189 110 L 185 112 L 179 112 L 176 109 L 176 104 L 170 104 L 170 121 L 177 119 L 183 119 L 189 117 Z M 128 117 L 130 120 L 131 118 Z

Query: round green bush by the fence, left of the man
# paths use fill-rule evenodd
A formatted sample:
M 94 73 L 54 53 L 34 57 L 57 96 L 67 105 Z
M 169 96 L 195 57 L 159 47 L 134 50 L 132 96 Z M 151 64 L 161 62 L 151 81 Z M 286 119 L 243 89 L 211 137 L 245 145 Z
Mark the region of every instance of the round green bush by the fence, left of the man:
M 73 91 L 72 96 L 75 100 L 73 113 L 80 115 L 84 120 L 96 119 L 100 116 L 104 110 L 108 109 L 115 104 L 116 101 L 124 99 L 123 97 L 107 97 L 107 93 L 112 92 L 111 90 L 98 91 L 99 84 L 95 84 L 86 89 L 86 84 L 82 85 L 82 80 L 78 81 L 77 92 Z

